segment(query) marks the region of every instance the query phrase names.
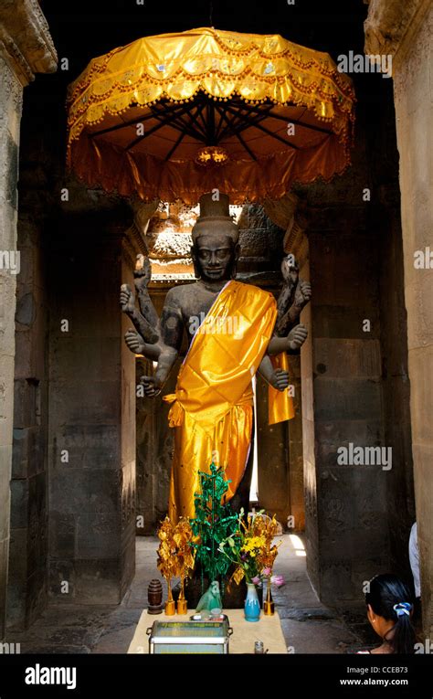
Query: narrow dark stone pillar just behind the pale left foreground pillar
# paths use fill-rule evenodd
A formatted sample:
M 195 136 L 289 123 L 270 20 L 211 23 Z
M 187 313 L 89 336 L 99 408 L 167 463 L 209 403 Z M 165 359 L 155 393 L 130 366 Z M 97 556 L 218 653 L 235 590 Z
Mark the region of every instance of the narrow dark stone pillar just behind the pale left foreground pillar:
M 24 151 L 25 146 L 21 148 Z M 26 157 L 24 162 L 27 162 Z M 48 288 L 46 212 L 26 165 L 20 171 L 16 363 L 7 626 L 26 628 L 48 598 Z M 53 209 L 56 202 L 52 202 Z

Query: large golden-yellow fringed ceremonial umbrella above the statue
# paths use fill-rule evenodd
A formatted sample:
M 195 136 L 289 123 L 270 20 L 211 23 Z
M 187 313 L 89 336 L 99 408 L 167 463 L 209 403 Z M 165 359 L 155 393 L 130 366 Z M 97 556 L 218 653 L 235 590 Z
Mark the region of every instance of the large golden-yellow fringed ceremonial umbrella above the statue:
M 133 41 L 69 87 L 69 166 L 91 187 L 195 204 L 280 198 L 350 163 L 354 90 L 326 53 L 193 29 Z

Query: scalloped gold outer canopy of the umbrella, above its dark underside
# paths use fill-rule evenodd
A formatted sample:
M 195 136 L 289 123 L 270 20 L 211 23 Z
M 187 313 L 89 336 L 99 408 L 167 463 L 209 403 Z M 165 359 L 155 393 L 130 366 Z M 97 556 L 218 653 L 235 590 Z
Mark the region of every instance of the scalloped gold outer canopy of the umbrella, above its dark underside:
M 69 86 L 70 144 L 106 112 L 120 114 L 133 104 L 164 97 L 192 101 L 199 92 L 217 101 L 238 95 L 259 104 L 294 103 L 332 124 L 339 141 L 351 139 L 352 80 L 326 53 L 274 36 L 238 34 L 212 28 L 146 37 L 93 58 Z

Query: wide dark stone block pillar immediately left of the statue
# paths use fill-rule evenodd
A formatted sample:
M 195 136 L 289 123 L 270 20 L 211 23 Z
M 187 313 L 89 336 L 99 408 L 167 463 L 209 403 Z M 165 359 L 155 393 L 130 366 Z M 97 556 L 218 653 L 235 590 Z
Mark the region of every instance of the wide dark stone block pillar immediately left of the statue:
M 49 251 L 49 594 L 119 604 L 135 570 L 136 446 L 119 290 L 145 246 L 116 202 L 65 214 Z

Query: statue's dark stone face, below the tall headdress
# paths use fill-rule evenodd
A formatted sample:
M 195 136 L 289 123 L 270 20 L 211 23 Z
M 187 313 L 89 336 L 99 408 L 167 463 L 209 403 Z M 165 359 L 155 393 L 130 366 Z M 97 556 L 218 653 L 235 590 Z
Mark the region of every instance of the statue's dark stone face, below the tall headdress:
M 229 236 L 203 233 L 195 240 L 193 258 L 202 280 L 228 281 L 238 259 L 238 246 Z

